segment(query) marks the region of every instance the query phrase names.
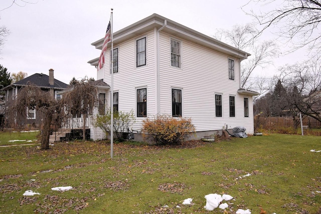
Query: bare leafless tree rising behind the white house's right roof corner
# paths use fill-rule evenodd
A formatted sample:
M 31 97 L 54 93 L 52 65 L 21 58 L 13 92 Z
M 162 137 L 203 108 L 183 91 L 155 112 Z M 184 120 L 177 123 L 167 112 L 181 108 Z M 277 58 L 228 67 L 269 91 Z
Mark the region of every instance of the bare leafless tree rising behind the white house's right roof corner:
M 254 24 L 234 25 L 231 30 L 220 29 L 215 38 L 223 40 L 230 45 L 251 53 L 248 59 L 241 62 L 241 87 L 251 88 L 250 76 L 257 67 L 265 67 L 272 63 L 272 58 L 277 56 L 278 48 L 274 41 L 259 41 L 255 37 L 257 30 Z M 251 39 L 251 38 L 255 39 Z

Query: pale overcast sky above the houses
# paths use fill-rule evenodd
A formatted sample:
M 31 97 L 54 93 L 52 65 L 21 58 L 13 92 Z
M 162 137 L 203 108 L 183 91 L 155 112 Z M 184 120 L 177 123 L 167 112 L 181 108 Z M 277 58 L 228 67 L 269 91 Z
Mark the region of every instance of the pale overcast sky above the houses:
M 249 0 L 16 0 L 20 6 L 10 6 L 12 1 L 0 0 L 0 25 L 11 31 L 0 64 L 11 73 L 23 71 L 28 76 L 48 75 L 53 68 L 55 78 L 67 84 L 72 77 L 97 78 L 96 68 L 87 61 L 100 54 L 91 43 L 104 36 L 110 8 L 114 32 L 152 13 L 209 36 L 218 28 L 252 21 L 241 9 Z M 302 55 L 290 58 L 300 60 Z M 262 73 L 272 74 L 282 61 L 276 59 L 276 65 Z

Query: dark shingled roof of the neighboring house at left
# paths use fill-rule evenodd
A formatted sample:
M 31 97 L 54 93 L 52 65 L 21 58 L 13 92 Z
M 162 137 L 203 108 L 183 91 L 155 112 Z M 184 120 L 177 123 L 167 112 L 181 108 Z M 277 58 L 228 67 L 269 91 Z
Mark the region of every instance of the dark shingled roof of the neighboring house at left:
M 31 76 L 28 76 L 15 83 L 10 84 L 7 87 L 4 87 L 3 90 L 7 90 L 9 88 L 12 88 L 13 86 L 27 85 L 28 83 L 33 83 L 41 88 L 54 88 L 54 89 L 64 89 L 68 86 L 68 84 L 62 81 L 59 81 L 58 79 L 55 79 L 55 78 L 54 78 L 54 85 L 50 85 L 48 75 L 43 73 L 35 73 Z

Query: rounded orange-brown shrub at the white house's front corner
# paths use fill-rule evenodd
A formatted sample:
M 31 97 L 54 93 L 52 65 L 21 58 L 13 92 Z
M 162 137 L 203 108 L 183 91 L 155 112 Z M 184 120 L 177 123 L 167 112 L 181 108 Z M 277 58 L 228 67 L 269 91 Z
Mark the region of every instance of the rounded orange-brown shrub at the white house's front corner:
M 191 118 L 157 115 L 143 121 L 144 137 L 158 144 L 178 144 L 195 132 Z M 145 133 L 148 133 L 145 134 Z

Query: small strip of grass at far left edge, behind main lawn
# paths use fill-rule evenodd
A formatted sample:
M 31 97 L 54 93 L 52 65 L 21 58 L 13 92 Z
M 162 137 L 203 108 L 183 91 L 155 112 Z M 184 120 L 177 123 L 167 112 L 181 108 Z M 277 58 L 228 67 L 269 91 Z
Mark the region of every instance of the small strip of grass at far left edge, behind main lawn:
M 39 131 L 31 132 L 0 132 L 0 145 L 27 144 L 37 142 Z M 21 141 L 11 141 L 21 140 Z M 30 141 L 32 140 L 32 141 Z M 28 142 L 29 141 L 29 142 Z

